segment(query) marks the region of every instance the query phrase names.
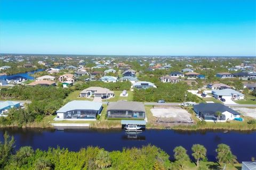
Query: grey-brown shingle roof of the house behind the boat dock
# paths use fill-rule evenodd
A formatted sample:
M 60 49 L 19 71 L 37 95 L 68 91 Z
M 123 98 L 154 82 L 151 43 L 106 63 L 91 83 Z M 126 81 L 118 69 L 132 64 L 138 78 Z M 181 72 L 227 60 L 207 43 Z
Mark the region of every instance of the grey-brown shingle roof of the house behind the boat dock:
M 142 103 L 137 101 L 117 101 L 117 102 L 111 102 L 108 105 L 107 110 L 130 110 L 130 111 L 139 111 L 139 112 L 145 112 L 145 107 Z

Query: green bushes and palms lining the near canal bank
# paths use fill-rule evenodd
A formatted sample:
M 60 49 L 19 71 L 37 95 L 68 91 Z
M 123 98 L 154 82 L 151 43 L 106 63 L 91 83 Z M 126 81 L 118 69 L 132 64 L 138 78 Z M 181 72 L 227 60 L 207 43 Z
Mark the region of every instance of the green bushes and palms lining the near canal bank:
M 122 151 L 106 151 L 99 147 L 82 148 L 79 151 L 69 151 L 65 148 L 49 148 L 46 151 L 30 146 L 21 147 L 15 151 L 15 141 L 6 132 L 4 142 L 0 142 L 0 169 L 183 169 L 191 162 L 187 150 L 182 146 L 173 150 L 174 161 L 169 155 L 156 146 L 141 148 L 123 148 Z M 191 156 L 198 169 L 209 169 L 200 163 L 207 162 L 206 149 L 196 144 L 191 148 Z M 237 163 L 236 156 L 225 144 L 219 144 L 217 160 L 220 166 Z

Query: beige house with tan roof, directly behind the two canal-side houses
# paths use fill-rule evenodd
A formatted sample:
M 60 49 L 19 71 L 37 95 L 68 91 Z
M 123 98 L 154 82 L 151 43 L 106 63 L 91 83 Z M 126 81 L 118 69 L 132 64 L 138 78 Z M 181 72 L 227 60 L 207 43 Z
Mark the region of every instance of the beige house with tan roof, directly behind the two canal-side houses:
M 89 87 L 80 92 L 79 97 L 103 97 L 107 96 L 107 98 L 114 97 L 114 91 L 110 91 L 107 88 L 102 87 Z

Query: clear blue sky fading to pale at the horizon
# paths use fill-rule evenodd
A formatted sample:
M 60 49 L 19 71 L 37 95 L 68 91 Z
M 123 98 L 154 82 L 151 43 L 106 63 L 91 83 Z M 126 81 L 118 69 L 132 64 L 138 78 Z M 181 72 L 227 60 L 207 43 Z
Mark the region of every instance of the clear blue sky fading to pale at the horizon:
M 0 53 L 256 56 L 256 0 L 0 0 Z

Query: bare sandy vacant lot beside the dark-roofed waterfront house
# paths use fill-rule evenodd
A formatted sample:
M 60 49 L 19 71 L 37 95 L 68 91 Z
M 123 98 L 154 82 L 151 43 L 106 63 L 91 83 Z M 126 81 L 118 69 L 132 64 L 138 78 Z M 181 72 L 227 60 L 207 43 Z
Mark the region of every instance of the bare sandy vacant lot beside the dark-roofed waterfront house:
M 190 114 L 180 107 L 155 107 L 150 111 L 155 117 L 169 118 L 173 122 L 191 122 Z

